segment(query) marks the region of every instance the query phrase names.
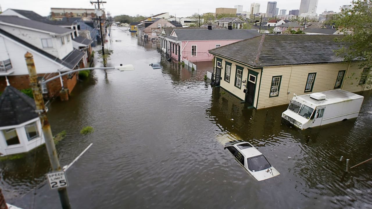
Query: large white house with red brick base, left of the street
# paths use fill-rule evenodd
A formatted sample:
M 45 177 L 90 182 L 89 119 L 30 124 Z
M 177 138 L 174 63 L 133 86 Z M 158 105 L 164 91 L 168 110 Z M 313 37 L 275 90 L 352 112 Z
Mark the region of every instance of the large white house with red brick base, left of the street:
M 29 88 L 24 58 L 28 51 L 33 54 L 40 79 L 46 74 L 50 77 L 84 67 L 84 52 L 73 48 L 73 32 L 72 29 L 17 16 L 0 15 L 0 63 L 7 64 L 6 67 L 0 65 L 0 91 L 5 89 L 7 79 L 16 89 Z M 43 87 L 44 96 L 55 97 L 64 93 L 66 99 L 67 93 L 68 99 L 76 82 L 76 73 L 51 81 Z

